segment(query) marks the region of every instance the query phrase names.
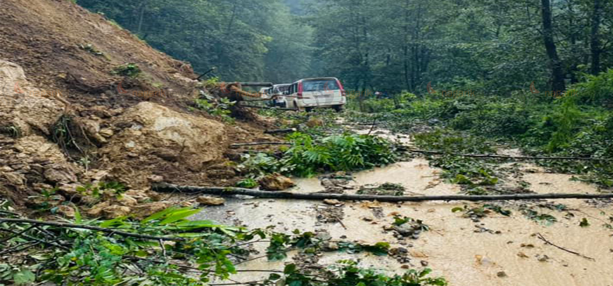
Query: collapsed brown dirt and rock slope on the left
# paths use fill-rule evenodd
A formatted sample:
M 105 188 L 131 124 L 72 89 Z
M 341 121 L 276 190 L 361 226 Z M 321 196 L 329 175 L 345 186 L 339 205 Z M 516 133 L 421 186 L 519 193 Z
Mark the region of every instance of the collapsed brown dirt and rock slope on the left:
M 59 187 L 64 205 L 93 206 L 75 187 L 118 181 L 150 203 L 153 182 L 234 184 L 227 146 L 270 139 L 263 122 L 227 125 L 189 108 L 200 93 L 191 66 L 102 15 L 65 0 L 0 6 L 0 198 L 23 205 Z M 128 63 L 142 72 L 113 73 Z

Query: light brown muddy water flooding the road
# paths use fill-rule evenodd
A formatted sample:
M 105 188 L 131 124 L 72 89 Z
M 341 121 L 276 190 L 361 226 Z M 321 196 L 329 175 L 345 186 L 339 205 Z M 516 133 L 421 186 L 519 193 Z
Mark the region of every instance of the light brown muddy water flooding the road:
M 528 166 L 535 173 L 525 173 L 523 179 L 538 193 L 596 193 L 590 185 L 569 181 L 571 176 L 544 173 Z M 406 195 L 457 194 L 459 187 L 438 179 L 438 172 L 428 167 L 427 160 L 414 159 L 385 168 L 354 174 L 351 184 L 398 183 L 406 187 Z M 318 192 L 323 190 L 316 178 L 295 179 L 294 192 Z M 232 199 L 226 206 L 207 208 L 201 218 L 216 219 L 225 223 L 243 224 L 249 228 L 274 225 L 278 231 L 327 230 L 333 239 L 355 240 L 374 244 L 386 241 L 392 247 L 406 247 L 411 268 L 422 268 L 422 263 L 432 268 L 435 276 L 444 276 L 450 285 L 602 285 L 613 286 L 613 231 L 603 224 L 613 216 L 611 203 L 598 208 L 585 200 L 549 200 L 563 203 L 570 211 L 535 208 L 539 213 L 550 214 L 558 222 L 550 225 L 527 219 L 517 210 L 521 202 L 510 202 L 510 217 L 490 214 L 481 222 L 473 222 L 452 213 L 457 206 L 476 206 L 463 202 L 377 203 L 345 202 L 345 216 L 340 223 L 322 223 L 316 219 L 316 208 L 324 207 L 318 201 Z M 545 202 L 545 201 L 543 201 Z M 570 213 L 570 214 L 568 214 Z M 392 231 L 384 231 L 394 214 L 424 220 L 431 231 L 422 233 L 419 239 L 399 241 Z M 580 227 L 581 219 L 590 222 Z M 544 244 L 536 234 L 540 233 L 551 243 L 578 252 L 593 260 L 571 254 L 557 247 Z M 265 244 L 257 249 L 264 250 Z M 264 253 L 264 252 L 262 252 Z M 257 256 L 257 255 L 254 255 Z M 290 255 L 291 257 L 292 255 Z M 326 253 L 319 264 L 334 263 L 339 259 L 360 259 L 364 266 L 402 273 L 401 264 L 392 257 L 370 254 Z M 291 258 L 287 261 L 291 261 Z M 422 262 L 423 261 L 423 262 Z M 283 269 L 284 262 L 267 262 L 265 258 L 238 265 L 239 269 Z M 266 275 L 242 273 L 233 279 L 253 281 Z

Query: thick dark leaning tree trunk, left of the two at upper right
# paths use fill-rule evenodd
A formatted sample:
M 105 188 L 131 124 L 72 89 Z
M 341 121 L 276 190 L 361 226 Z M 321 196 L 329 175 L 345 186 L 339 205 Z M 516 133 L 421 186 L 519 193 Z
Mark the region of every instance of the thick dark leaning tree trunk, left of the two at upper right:
M 547 50 L 547 56 L 552 68 L 552 88 L 554 91 L 566 90 L 562 62 L 558 57 L 558 51 L 554 42 L 554 27 L 551 20 L 551 6 L 549 0 L 541 0 L 541 12 L 543 14 L 543 42 Z

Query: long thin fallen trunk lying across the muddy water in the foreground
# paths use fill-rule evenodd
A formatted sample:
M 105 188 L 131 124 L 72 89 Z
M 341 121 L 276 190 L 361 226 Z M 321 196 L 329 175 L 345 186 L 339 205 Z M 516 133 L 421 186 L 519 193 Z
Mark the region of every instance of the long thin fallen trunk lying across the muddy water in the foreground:
M 353 195 L 326 193 L 291 193 L 265 192 L 263 190 L 243 189 L 239 187 L 196 187 L 173 184 L 156 184 L 153 190 L 158 192 L 184 192 L 188 194 L 208 195 L 249 195 L 258 198 L 286 198 L 292 200 L 344 200 L 344 201 L 495 201 L 495 200 L 536 200 L 545 198 L 613 198 L 613 194 L 518 194 L 518 195 L 417 195 L 397 197 L 394 195 Z

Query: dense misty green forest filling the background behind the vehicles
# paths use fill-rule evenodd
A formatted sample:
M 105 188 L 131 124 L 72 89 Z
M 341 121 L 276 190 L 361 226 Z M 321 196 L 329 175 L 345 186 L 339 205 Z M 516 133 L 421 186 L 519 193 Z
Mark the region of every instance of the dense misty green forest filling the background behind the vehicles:
M 222 80 L 564 90 L 613 65 L 610 0 L 78 0 Z

